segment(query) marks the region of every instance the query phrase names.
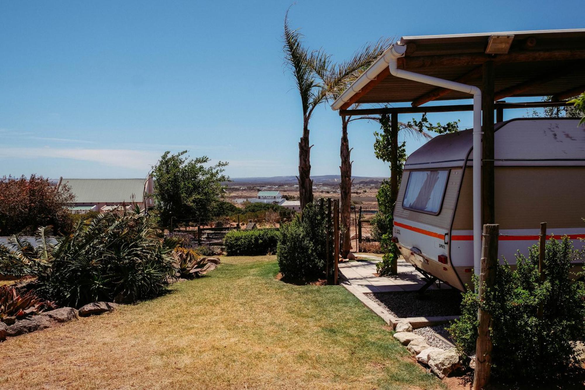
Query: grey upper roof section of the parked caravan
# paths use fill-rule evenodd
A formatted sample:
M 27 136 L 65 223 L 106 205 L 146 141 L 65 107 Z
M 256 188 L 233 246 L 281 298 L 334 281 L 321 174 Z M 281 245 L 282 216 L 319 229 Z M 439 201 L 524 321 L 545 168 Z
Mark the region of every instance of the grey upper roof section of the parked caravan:
M 404 169 L 472 166 L 472 129 L 439 135 Z M 571 118 L 519 118 L 495 125 L 495 166 L 585 166 L 585 126 Z

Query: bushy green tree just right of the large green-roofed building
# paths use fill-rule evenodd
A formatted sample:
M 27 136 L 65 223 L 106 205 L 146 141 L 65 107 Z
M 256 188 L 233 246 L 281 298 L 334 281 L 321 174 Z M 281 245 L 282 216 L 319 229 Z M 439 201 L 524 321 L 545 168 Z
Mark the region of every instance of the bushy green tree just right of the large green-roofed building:
M 216 206 L 223 197 L 222 182 L 229 181 L 223 175 L 228 163 L 205 166 L 210 161 L 207 156 L 190 159 L 186 153 L 164 152 L 153 167 L 155 207 L 163 225 L 170 224 L 171 218 L 207 221 L 221 208 Z

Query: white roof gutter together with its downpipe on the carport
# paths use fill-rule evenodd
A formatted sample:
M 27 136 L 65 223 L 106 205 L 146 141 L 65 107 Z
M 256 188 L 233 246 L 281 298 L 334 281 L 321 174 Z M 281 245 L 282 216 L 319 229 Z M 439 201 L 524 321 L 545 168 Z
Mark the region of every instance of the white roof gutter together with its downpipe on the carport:
M 395 77 L 407 78 L 419 83 L 436 85 L 473 95 L 473 270 L 479 276 L 481 268 L 481 90 L 474 85 L 456 83 L 426 74 L 414 73 L 408 70 L 398 69 L 398 58 L 404 56 L 406 45 L 398 43 L 390 46 L 378 59 L 348 88 L 333 104 L 333 110 L 339 110 L 341 106 L 370 80 L 374 80 L 378 74 L 388 66 L 390 73 Z

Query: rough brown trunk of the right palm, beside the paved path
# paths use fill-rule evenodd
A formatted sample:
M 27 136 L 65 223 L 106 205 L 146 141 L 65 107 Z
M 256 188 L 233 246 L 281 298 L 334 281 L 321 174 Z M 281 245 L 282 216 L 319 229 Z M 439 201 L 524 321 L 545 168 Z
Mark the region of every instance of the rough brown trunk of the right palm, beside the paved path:
M 347 117 L 342 117 L 342 133 L 341 133 L 341 183 L 339 184 L 341 197 L 341 224 L 343 227 L 342 248 L 341 255 L 345 259 L 352 249 L 352 242 L 350 240 L 351 234 L 351 206 L 352 206 L 352 162 L 350 160 L 351 150 L 349 149 L 349 141 L 347 141 Z

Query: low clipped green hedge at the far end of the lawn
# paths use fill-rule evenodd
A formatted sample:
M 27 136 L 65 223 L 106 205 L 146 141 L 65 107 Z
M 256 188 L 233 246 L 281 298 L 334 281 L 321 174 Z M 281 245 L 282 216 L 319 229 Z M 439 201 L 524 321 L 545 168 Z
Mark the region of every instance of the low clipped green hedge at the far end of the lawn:
M 276 252 L 280 232 L 274 229 L 232 230 L 223 244 L 228 256 L 256 256 Z

